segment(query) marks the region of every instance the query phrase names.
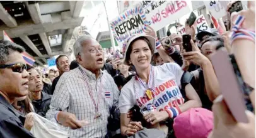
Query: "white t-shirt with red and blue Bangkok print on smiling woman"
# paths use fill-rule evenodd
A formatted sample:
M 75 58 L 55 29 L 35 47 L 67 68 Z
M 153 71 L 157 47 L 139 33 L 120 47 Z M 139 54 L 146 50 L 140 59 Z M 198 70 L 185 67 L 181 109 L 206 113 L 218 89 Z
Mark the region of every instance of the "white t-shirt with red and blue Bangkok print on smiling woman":
M 134 105 L 138 105 L 141 109 L 146 108 L 148 105 L 152 106 L 153 100 L 153 107 L 158 111 L 184 103 L 179 89 L 180 79 L 183 75 L 182 68 L 177 63 L 165 63 L 161 66 L 152 66 L 152 68 L 154 73 L 153 81 L 155 80 L 153 97 L 145 97 L 148 85 L 145 88 L 136 77 L 132 77 L 121 90 L 119 97 L 120 113 L 127 113 Z M 137 94 L 134 92 L 134 81 Z

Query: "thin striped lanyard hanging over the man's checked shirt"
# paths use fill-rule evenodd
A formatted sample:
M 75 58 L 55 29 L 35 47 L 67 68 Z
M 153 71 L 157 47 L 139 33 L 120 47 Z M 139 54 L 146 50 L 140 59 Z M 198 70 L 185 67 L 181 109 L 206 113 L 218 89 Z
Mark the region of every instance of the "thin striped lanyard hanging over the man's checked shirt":
M 96 114 L 98 114 L 98 103 L 99 103 L 99 99 L 100 99 L 100 93 L 98 94 L 98 103 L 96 104 L 96 102 L 95 102 L 95 100 L 94 100 L 94 98 L 93 98 L 93 94 L 92 94 L 92 91 L 91 91 L 91 87 L 90 87 L 90 85 L 89 85 L 89 81 L 87 80 L 87 78 L 86 78 L 86 75 L 84 75 L 84 72 L 83 72 L 83 70 L 82 70 L 82 68 L 79 66 L 79 70 L 81 71 L 81 73 L 83 74 L 83 77 L 84 77 L 84 79 L 85 79 L 85 83 L 86 83 L 86 85 L 87 85 L 87 87 L 88 87 L 88 92 L 89 92 L 89 95 L 90 95 L 90 97 L 91 97 L 91 100 L 93 101 L 93 105 L 94 105 L 94 107 L 95 107 L 95 110 L 96 110 Z M 96 86 L 97 87 L 97 86 Z M 100 92 L 102 92 L 102 78 L 100 79 Z

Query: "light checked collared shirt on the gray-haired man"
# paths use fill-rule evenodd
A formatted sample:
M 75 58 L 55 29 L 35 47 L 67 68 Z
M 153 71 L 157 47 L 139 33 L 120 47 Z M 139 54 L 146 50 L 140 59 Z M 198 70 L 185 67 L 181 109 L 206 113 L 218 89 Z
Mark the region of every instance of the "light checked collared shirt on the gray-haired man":
M 98 112 L 102 116 L 98 119 L 94 119 L 95 105 L 90 97 L 85 77 L 91 87 L 95 102 L 99 101 Z M 108 73 L 101 71 L 96 79 L 95 74 L 79 65 L 78 68 L 64 73 L 59 79 L 46 117 L 55 121 L 54 117 L 59 110 L 72 113 L 79 120 L 87 120 L 89 124 L 76 130 L 67 128 L 69 137 L 105 137 L 109 111 L 113 105 L 118 105 L 119 94 L 117 85 Z

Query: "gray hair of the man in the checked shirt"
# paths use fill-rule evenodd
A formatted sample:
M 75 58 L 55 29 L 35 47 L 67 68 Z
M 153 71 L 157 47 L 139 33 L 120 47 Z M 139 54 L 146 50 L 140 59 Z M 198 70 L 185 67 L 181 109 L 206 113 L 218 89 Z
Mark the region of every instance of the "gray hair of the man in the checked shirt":
M 82 43 L 84 41 L 88 41 L 91 39 L 93 39 L 93 38 L 90 35 L 84 35 L 84 36 L 80 36 L 78 38 L 78 40 L 76 40 L 76 42 L 74 43 L 74 47 L 73 47 L 75 57 L 78 56 L 79 53 L 81 53 L 82 48 L 83 48 Z

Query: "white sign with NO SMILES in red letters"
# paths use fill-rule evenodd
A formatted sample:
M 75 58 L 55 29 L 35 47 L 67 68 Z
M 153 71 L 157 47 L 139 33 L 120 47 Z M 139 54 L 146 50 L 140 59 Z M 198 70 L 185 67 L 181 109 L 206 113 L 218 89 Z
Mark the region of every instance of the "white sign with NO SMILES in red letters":
M 187 1 L 152 1 L 147 10 L 146 19 L 155 31 L 191 12 Z

